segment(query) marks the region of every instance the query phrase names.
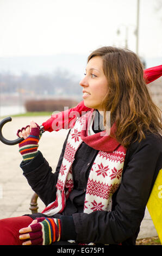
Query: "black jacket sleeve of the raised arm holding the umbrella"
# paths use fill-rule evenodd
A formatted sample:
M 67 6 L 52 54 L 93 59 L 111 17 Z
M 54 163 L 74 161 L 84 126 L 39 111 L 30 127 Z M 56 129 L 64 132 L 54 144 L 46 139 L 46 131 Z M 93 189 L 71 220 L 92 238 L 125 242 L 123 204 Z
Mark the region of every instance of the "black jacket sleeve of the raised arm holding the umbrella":
M 33 160 L 29 161 L 28 163 L 21 162 L 20 164 L 20 167 L 23 170 L 23 175 L 27 178 L 30 187 L 32 187 L 35 193 L 38 194 L 45 205 L 53 202 L 56 197 L 55 194 L 57 188 L 55 185 L 57 184 L 61 163 L 63 161 L 68 134 L 65 139 L 55 172 L 52 172 L 52 168 L 49 166 L 48 162 L 40 151 L 38 151 L 38 154 Z

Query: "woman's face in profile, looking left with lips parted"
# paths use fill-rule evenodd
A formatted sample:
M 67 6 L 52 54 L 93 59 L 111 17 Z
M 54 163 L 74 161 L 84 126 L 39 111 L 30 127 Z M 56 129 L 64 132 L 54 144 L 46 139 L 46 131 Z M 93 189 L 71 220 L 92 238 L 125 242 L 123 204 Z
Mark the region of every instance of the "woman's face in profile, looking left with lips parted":
M 83 87 L 84 105 L 103 111 L 102 101 L 108 92 L 108 81 L 103 72 L 103 60 L 96 56 L 89 60 L 86 66 L 86 74 L 80 86 Z

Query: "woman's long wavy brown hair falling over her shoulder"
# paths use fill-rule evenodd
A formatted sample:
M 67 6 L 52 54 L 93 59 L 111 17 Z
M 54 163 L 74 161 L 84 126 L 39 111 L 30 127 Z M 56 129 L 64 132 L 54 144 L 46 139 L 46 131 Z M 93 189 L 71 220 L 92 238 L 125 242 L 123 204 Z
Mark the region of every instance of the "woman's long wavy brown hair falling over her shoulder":
M 145 138 L 147 132 L 161 134 L 161 111 L 149 95 L 139 57 L 126 48 L 111 46 L 93 51 L 88 62 L 95 56 L 103 59 L 108 81 L 103 109 L 110 111 L 111 125 L 116 123 L 117 141 L 128 148 L 130 143 Z

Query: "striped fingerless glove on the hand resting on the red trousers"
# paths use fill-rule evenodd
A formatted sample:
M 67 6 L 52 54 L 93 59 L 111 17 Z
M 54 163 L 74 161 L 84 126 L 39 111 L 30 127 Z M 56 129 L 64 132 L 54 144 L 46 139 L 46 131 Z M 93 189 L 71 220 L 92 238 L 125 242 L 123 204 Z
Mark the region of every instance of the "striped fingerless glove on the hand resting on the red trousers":
M 38 223 L 30 225 L 32 245 L 50 245 L 61 237 L 61 221 L 57 218 L 36 218 Z

